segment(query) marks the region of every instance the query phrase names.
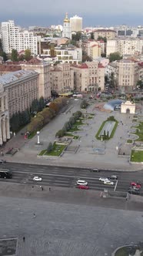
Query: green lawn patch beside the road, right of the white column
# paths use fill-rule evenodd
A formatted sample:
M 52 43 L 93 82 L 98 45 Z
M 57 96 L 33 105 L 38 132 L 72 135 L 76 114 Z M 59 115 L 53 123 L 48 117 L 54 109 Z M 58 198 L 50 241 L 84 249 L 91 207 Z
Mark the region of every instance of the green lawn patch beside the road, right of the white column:
M 50 153 L 47 152 L 47 150 L 42 150 L 38 156 L 55 156 L 55 157 L 59 157 L 62 153 L 63 150 L 65 150 L 66 145 L 57 145 L 56 143 L 54 143 L 53 145 L 53 149 Z

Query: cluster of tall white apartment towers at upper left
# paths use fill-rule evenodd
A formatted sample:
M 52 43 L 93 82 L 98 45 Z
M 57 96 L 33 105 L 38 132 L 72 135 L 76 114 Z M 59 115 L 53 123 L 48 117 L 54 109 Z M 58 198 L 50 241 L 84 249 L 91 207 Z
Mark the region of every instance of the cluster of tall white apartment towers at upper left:
M 11 53 L 12 49 L 16 49 L 18 52 L 30 49 L 32 55 L 38 54 L 38 37 L 33 32 L 20 32 L 19 27 L 15 26 L 15 22 L 12 20 L 2 22 L 1 32 L 4 52 Z

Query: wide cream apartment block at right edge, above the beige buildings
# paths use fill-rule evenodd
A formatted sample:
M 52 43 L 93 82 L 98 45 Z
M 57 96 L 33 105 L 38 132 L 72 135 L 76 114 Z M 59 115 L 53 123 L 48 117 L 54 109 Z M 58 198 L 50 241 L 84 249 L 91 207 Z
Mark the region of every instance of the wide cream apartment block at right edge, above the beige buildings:
M 143 39 L 114 39 L 108 40 L 106 56 L 112 52 L 119 52 L 123 55 L 139 55 L 143 53 Z

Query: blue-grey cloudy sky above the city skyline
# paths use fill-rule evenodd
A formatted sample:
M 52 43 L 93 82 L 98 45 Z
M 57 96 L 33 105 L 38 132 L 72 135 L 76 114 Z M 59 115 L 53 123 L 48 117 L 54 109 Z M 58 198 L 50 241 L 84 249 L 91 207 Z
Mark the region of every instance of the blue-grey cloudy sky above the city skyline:
M 78 15 L 84 26 L 143 25 L 143 0 L 1 0 L 0 22 L 16 25 L 59 25 L 65 12 Z

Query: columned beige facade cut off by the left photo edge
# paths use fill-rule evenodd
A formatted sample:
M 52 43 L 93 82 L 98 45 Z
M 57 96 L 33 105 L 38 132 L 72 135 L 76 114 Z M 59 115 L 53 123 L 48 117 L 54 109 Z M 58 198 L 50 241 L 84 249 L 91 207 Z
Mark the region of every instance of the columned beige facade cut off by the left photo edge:
M 0 146 L 10 139 L 9 113 L 8 113 L 8 91 L 0 82 Z

